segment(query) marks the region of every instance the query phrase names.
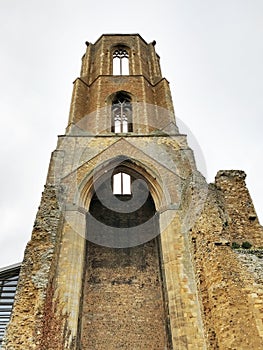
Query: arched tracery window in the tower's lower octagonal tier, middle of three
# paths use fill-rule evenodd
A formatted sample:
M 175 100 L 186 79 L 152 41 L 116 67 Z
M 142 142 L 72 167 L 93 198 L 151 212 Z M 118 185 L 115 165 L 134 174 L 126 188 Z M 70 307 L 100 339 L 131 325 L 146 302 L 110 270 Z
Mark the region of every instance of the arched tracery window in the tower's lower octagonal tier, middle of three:
M 132 106 L 126 94 L 117 94 L 112 102 L 112 131 L 115 133 L 132 131 Z

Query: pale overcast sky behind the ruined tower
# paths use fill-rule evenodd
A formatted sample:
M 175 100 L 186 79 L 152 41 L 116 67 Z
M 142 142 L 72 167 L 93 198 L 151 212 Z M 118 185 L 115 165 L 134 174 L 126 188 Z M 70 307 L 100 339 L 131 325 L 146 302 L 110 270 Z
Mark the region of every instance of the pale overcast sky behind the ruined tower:
M 0 267 L 23 258 L 85 41 L 103 33 L 157 41 L 204 175 L 244 170 L 263 222 L 262 0 L 1 0 Z

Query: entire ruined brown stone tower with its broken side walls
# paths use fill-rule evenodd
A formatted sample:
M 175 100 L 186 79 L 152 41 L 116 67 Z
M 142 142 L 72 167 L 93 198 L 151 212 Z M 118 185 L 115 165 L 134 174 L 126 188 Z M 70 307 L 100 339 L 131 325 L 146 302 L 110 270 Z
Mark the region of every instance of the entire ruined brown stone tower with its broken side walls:
M 86 45 L 3 348 L 262 349 L 245 174 L 208 186 L 197 171 L 155 42 Z M 232 249 L 245 241 L 251 254 Z

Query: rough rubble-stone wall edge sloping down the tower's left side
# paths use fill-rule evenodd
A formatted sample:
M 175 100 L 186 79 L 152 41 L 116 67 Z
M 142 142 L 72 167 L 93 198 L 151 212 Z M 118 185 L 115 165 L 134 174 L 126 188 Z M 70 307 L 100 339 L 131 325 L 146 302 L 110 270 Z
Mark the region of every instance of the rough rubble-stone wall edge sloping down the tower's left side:
M 47 184 L 42 194 L 32 238 L 25 250 L 3 349 L 41 349 L 43 325 L 47 321 L 46 306 L 53 297 L 49 293 L 50 276 L 54 274 L 56 266 L 60 223 L 61 212 L 56 189 Z

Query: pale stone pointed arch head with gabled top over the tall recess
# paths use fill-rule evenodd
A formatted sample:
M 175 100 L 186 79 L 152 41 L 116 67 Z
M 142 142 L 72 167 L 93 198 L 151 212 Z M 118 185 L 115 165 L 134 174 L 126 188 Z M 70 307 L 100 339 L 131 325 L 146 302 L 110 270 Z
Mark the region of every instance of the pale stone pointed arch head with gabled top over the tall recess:
M 153 139 L 155 152 L 149 152 L 147 148 L 139 148 L 136 140 L 131 139 L 128 142 L 122 136 L 116 142 L 111 142 L 95 157 L 83 152 L 81 156 L 83 160 L 80 161 L 79 166 L 61 179 L 68 188 L 65 194 L 66 207 L 72 210 L 79 208 L 83 213 L 88 211 L 94 184 L 102 175 L 106 176 L 122 163 L 129 172 L 136 171 L 140 178 L 146 181 L 157 211 L 178 210 L 184 183 L 189 174 L 181 173 L 180 167 L 163 157 L 163 152 L 158 151 L 157 141 Z M 101 140 L 96 139 L 94 142 L 99 144 Z M 182 154 L 179 152 L 178 156 L 181 159 L 184 152 Z M 179 162 L 180 159 L 178 159 Z M 135 177 L 137 178 L 138 175 Z

